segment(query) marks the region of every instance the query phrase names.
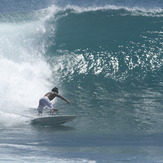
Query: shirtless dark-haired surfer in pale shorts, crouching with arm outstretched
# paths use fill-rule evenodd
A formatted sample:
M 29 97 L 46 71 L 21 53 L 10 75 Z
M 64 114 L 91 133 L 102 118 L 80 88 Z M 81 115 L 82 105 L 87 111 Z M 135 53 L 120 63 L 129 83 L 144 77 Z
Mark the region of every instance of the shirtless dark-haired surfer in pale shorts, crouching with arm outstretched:
M 51 90 L 51 92 L 48 92 L 44 95 L 44 97 L 42 97 L 40 100 L 39 100 L 39 106 L 37 108 L 38 110 L 38 114 L 42 114 L 42 111 L 43 109 L 46 107 L 48 109 L 50 109 L 50 113 L 53 115 L 53 113 L 56 111 L 58 111 L 58 109 L 55 109 L 53 107 L 53 104 L 52 104 L 52 100 L 55 98 L 55 97 L 59 97 L 60 99 L 64 100 L 65 102 L 67 102 L 68 104 L 71 104 L 71 102 L 69 100 L 67 100 L 66 98 L 64 98 L 63 96 L 59 95 L 58 94 L 58 88 L 55 87 Z

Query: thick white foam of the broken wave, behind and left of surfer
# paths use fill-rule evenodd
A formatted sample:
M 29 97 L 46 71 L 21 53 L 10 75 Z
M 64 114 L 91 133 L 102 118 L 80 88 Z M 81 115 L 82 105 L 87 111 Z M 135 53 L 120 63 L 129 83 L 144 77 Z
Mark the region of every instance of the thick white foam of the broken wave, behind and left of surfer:
M 45 24 L 0 24 L 0 123 L 21 122 L 25 109 L 37 107 L 51 86 L 51 69 L 43 57 Z

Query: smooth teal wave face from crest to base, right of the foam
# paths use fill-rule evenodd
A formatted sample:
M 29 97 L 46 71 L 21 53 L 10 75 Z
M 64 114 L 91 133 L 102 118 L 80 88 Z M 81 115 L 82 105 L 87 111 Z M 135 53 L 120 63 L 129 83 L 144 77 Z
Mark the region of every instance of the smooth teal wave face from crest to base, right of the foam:
M 162 11 L 70 7 L 56 17 L 47 55 L 54 78 L 79 108 L 74 112 L 84 116 L 82 125 L 97 122 L 97 130 L 122 133 L 160 130 Z

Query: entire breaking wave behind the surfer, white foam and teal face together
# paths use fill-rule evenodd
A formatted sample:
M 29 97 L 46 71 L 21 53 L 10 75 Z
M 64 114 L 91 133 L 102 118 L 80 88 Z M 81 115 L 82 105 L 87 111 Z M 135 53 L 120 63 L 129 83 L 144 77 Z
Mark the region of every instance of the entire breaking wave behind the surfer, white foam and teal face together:
M 3 116 L 37 106 L 57 85 L 75 106 L 63 112 L 80 115 L 81 130 L 161 129 L 163 11 L 102 2 L 1 13 Z

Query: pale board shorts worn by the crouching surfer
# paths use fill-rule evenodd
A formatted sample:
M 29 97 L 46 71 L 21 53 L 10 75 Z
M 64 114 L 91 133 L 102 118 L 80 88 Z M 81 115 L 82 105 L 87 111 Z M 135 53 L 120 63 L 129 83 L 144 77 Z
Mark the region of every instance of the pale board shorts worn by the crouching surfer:
M 48 109 L 53 109 L 53 105 L 52 105 L 51 101 L 46 96 L 39 100 L 39 106 L 37 107 L 38 112 L 42 113 L 42 111 L 45 107 Z

